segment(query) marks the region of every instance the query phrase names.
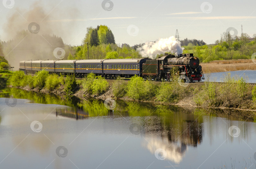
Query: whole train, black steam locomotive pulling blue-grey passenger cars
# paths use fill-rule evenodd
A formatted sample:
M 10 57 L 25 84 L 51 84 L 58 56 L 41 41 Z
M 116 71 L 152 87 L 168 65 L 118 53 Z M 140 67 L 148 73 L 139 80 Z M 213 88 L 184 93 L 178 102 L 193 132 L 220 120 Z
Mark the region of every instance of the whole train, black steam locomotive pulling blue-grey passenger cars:
M 178 57 L 165 54 L 157 59 L 24 60 L 20 61 L 20 70 L 25 74 L 46 70 L 49 73 L 75 74 L 80 77 L 88 73 L 106 78 L 152 76 L 156 80 L 169 81 L 171 69 L 178 67 L 182 80 L 191 82 L 201 81 L 203 78 L 202 67 L 199 63 L 199 59 L 193 57 L 193 54 L 181 54 Z

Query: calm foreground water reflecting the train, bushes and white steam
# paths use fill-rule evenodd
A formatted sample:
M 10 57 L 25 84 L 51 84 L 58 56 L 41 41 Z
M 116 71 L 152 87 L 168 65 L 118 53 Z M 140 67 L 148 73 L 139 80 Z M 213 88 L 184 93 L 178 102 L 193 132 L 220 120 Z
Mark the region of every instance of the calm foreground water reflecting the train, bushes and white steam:
M 108 110 L 97 100 L 15 88 L 2 93 L 0 168 L 252 169 L 256 165 L 256 123 L 230 115 L 234 111 L 120 101 Z M 228 132 L 231 126 L 240 129 L 233 130 L 234 137 Z

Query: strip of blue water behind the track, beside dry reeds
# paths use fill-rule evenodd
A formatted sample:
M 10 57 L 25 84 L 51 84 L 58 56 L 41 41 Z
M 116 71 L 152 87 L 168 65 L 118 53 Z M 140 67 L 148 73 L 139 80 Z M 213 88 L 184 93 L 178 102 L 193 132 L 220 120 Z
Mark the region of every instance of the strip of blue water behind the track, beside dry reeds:
M 211 82 L 223 82 L 223 76 L 226 76 L 226 73 L 230 73 L 231 77 L 235 77 L 236 75 L 241 77 L 246 77 L 247 82 L 256 83 L 256 70 L 239 70 L 239 71 L 227 71 L 227 72 L 217 72 L 210 73 L 210 81 Z M 204 77 L 206 78 L 209 74 L 205 73 Z M 203 80 L 204 81 L 204 80 Z

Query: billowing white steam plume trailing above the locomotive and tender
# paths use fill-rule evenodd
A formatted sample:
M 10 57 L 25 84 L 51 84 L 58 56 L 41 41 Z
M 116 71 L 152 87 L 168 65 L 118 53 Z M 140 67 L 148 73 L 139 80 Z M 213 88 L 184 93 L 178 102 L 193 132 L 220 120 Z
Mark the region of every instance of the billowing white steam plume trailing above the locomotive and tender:
M 171 52 L 175 55 L 182 54 L 184 48 L 181 48 L 180 42 L 174 36 L 161 38 L 156 42 L 146 42 L 142 47 L 137 49 L 142 57 L 155 58 L 157 54 Z

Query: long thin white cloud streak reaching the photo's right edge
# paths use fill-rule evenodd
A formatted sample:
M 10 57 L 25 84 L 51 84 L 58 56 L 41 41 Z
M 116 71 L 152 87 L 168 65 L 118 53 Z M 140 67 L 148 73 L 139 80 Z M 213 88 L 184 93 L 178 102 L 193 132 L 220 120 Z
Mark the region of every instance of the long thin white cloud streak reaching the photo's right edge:
M 256 19 L 256 16 L 204 16 L 204 17 L 171 17 L 171 18 L 188 19 L 188 20 L 237 20 L 237 19 Z

